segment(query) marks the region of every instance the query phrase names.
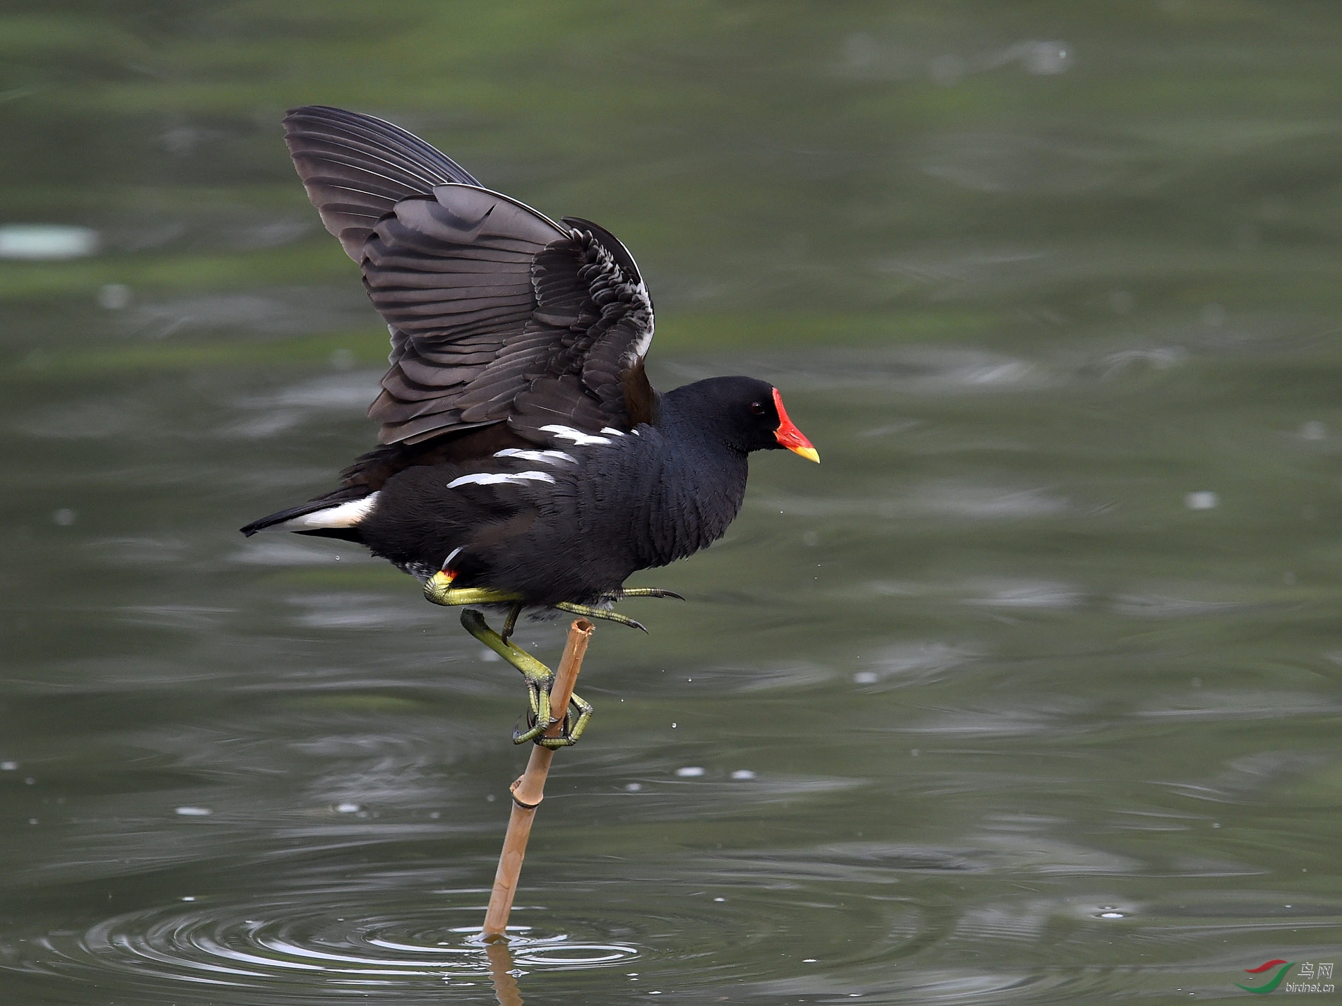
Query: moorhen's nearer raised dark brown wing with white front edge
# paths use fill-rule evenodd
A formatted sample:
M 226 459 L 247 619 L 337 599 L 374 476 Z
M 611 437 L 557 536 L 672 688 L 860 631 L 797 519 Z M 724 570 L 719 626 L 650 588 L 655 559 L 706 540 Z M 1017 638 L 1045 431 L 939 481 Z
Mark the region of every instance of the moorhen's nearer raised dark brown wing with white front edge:
M 384 443 L 501 420 L 526 435 L 647 418 L 631 414 L 624 381 L 641 374 L 652 304 L 588 231 L 440 185 L 377 225 L 364 283 L 392 330 L 392 368 L 369 409 Z

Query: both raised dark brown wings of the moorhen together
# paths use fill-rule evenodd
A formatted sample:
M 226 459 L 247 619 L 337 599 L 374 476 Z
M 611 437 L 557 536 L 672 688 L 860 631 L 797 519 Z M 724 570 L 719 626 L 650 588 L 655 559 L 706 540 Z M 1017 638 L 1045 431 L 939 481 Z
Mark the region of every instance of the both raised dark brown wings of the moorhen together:
M 306 107 L 285 122 L 313 204 L 391 330 L 369 408 L 382 443 L 505 421 L 549 441 L 546 425 L 651 418 L 652 302 L 613 235 L 490 192 L 381 119 Z

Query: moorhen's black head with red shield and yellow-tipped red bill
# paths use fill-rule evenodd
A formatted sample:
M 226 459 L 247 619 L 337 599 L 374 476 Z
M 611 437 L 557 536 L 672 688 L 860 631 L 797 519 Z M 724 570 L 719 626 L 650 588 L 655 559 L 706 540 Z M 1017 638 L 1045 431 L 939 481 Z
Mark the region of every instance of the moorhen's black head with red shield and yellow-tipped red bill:
M 785 447 L 819 461 L 820 455 L 782 408 L 782 396 L 768 381 L 753 377 L 710 377 L 676 388 L 675 401 L 696 425 L 710 428 L 726 444 L 749 453 Z

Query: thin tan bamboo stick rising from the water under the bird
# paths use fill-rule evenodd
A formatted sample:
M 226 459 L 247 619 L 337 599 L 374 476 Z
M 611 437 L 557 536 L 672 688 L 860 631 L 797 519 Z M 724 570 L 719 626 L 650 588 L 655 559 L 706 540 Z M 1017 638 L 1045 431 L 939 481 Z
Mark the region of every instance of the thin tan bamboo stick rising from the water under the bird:
M 564 715 L 569 708 L 569 696 L 582 669 L 582 656 L 588 640 L 592 638 L 592 622 L 576 618 L 569 625 L 569 640 L 564 647 L 560 669 L 554 673 L 550 688 L 552 715 L 560 719 L 545 731 L 546 736 L 558 736 L 564 730 Z M 484 912 L 484 927 L 480 936 L 487 940 L 502 939 L 507 930 L 507 916 L 513 911 L 513 897 L 517 895 L 517 879 L 522 873 L 522 858 L 526 856 L 526 840 L 531 834 L 531 821 L 535 807 L 545 799 L 545 778 L 550 774 L 550 759 L 554 748 L 533 744 L 526 771 L 513 783 L 513 813 L 507 820 L 507 834 L 503 836 L 503 850 L 499 853 L 498 871 L 494 873 L 494 889 L 490 892 L 490 907 Z

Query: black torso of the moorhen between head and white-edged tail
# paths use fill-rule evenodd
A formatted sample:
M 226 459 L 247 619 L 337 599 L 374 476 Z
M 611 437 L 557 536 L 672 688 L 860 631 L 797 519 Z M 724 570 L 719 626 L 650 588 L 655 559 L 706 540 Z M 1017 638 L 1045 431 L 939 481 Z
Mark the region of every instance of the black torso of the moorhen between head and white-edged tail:
M 479 465 L 497 473 L 544 468 L 553 482 L 447 488 L 467 469 L 407 469 L 386 483 L 361 523 L 364 542 L 419 575 L 456 553 L 458 586 L 519 593 L 530 604 L 593 601 L 636 570 L 717 541 L 741 508 L 745 453 L 674 424 L 604 440 L 566 448 L 573 463 Z

